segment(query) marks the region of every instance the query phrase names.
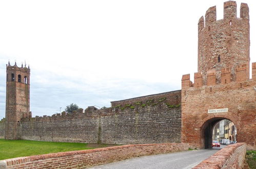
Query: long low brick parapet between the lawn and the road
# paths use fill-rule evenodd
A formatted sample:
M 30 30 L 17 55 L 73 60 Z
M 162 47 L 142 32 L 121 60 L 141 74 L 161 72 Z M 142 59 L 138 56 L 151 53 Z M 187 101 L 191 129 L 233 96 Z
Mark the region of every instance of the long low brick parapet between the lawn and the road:
M 121 145 L 6 159 L 0 161 L 0 168 L 84 168 L 139 156 L 187 151 L 188 147 L 187 143 Z

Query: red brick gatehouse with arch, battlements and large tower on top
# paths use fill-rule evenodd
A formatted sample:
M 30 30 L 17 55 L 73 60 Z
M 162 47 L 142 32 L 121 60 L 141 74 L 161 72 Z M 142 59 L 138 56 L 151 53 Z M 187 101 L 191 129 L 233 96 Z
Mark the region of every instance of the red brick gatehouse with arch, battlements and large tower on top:
M 238 141 L 255 149 L 256 62 L 249 78 L 249 8 L 224 3 L 224 18 L 216 20 L 216 7 L 198 23 L 198 71 L 194 83 L 182 77 L 182 142 L 208 148 L 212 128 L 222 119 L 237 126 Z M 232 139 L 232 138 L 231 138 Z

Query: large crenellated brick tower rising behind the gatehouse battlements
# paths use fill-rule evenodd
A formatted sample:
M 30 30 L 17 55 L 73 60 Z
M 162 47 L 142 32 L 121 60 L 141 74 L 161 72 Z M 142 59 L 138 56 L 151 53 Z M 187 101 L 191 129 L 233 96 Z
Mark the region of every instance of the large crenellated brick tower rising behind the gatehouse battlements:
M 246 65 L 249 79 L 250 62 L 249 8 L 242 3 L 240 18 L 237 3 L 224 3 L 224 18 L 216 20 L 216 7 L 210 7 L 198 23 L 198 72 L 202 72 L 203 85 L 207 85 L 207 71 L 215 70 L 216 83 L 221 83 L 221 70 L 229 68 L 231 81 L 237 80 L 236 69 Z

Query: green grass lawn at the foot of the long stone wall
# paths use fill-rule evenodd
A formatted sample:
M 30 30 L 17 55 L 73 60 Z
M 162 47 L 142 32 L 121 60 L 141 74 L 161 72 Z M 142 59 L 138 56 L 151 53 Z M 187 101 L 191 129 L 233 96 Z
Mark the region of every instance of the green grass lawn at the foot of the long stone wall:
M 95 149 L 95 147 L 100 148 L 106 146 L 109 145 L 99 144 L 97 146 L 92 145 L 88 147 L 87 143 L 0 139 L 0 160 L 39 154 Z

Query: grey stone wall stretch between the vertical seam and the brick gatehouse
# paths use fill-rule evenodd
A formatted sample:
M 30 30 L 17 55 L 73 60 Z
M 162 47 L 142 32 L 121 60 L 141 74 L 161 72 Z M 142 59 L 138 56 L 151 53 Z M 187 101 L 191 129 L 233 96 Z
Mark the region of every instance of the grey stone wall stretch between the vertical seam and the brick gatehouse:
M 115 108 L 101 114 L 100 136 L 109 144 L 181 142 L 181 108 L 165 104 Z

